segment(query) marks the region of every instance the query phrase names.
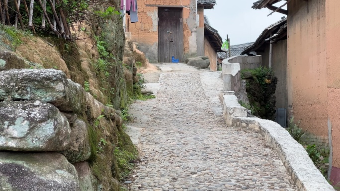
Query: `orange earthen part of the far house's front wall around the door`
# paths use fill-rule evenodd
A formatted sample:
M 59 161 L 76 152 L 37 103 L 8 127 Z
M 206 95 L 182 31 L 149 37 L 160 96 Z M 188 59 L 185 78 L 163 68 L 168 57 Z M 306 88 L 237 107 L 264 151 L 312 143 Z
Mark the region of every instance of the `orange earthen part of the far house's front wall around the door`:
M 190 0 L 138 0 L 137 3 L 139 22 L 127 23 L 129 25 L 129 31 L 127 32 L 132 33 L 133 42 L 137 42 L 140 46 L 144 47 L 143 51 L 148 50 L 148 46 L 150 46 L 150 49 L 154 49 L 151 53 L 146 51 L 146 55 L 150 56 L 149 54 L 156 54 L 158 51 L 158 6 L 176 5 L 178 7 L 182 4 L 189 7 Z M 183 8 L 184 54 L 190 52 L 189 38 L 192 32 L 187 23 L 190 11 L 195 12 L 196 7 L 191 9 Z M 126 19 L 128 18 L 129 16 L 127 15 Z

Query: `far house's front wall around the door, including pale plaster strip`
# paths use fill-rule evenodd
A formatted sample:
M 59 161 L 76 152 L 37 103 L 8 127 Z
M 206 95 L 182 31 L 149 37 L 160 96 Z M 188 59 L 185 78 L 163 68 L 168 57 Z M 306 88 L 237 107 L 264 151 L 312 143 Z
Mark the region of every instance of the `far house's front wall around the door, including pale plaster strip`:
M 132 33 L 132 41 L 138 43 L 150 62 L 158 62 L 158 6 L 183 6 L 184 55 L 196 56 L 196 0 L 138 0 L 139 22 L 127 23 Z M 127 16 L 127 19 L 129 16 Z M 204 40 L 204 39 L 203 39 Z

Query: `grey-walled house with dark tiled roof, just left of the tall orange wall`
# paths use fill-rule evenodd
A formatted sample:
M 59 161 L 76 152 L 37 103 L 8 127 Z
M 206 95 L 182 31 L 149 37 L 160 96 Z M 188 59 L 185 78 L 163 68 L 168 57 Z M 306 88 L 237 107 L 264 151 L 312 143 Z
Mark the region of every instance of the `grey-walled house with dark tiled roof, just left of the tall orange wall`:
M 288 110 L 287 19 L 268 26 L 241 55 L 261 55 L 262 66 L 271 67 L 277 77 L 276 108 Z

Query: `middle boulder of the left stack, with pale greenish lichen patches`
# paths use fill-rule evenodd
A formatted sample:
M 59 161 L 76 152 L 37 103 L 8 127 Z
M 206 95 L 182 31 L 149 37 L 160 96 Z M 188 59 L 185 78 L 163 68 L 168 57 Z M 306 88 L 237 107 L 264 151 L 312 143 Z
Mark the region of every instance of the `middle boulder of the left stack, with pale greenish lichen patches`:
M 67 118 L 51 104 L 0 102 L 0 150 L 62 151 L 70 133 Z

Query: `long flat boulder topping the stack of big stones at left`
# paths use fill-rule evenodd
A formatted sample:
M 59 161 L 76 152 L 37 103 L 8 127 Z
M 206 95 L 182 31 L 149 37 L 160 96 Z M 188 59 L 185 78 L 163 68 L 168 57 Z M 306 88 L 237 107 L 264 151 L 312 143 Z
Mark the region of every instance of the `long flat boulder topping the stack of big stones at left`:
M 85 91 L 80 84 L 56 69 L 11 69 L 0 71 L 0 101 L 40 100 L 61 111 L 78 112 L 85 105 Z

